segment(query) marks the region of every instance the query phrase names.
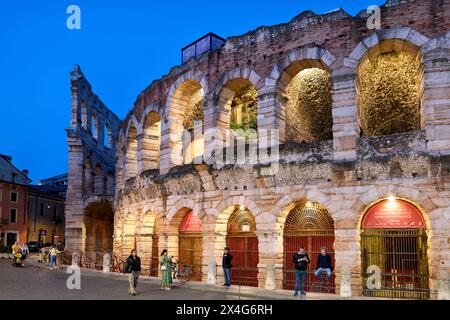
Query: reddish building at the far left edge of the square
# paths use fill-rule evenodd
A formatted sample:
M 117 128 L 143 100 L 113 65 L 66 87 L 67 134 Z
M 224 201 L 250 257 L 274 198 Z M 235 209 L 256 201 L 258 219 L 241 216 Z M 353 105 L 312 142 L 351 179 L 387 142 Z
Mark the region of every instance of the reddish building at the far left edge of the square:
M 0 244 L 27 241 L 27 198 L 31 179 L 12 157 L 0 154 Z

